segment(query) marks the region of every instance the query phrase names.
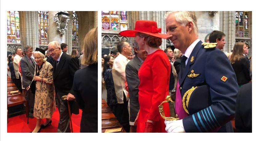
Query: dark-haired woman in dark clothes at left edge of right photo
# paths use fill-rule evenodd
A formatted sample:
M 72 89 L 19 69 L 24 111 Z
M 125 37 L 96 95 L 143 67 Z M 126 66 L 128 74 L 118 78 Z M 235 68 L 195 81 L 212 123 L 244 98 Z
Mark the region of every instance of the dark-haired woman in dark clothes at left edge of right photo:
M 104 58 L 103 77 L 104 77 L 104 81 L 107 89 L 107 103 L 115 115 L 116 114 L 115 107 L 117 105 L 117 99 L 116 99 L 116 93 L 115 93 L 115 87 L 114 87 L 114 80 L 112 77 L 113 63 L 114 63 L 114 58 L 112 56 L 108 55 Z

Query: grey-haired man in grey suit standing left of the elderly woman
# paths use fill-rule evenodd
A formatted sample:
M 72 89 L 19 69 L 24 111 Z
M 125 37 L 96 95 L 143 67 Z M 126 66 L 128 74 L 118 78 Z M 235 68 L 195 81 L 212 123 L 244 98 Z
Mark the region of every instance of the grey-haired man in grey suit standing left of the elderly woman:
M 20 68 L 22 70 L 22 86 L 23 88 L 28 87 L 31 84 L 31 81 L 34 78 L 34 73 L 35 73 L 35 61 L 33 58 L 31 58 L 33 52 L 33 47 L 29 45 L 25 45 L 24 47 L 24 53 L 25 56 L 22 57 L 20 60 Z M 29 109 L 31 107 L 34 107 L 34 102 L 35 102 L 35 84 L 34 81 L 30 85 L 30 90 L 27 93 L 26 99 L 28 101 Z M 29 112 L 29 117 L 33 118 L 33 114 L 31 111 Z

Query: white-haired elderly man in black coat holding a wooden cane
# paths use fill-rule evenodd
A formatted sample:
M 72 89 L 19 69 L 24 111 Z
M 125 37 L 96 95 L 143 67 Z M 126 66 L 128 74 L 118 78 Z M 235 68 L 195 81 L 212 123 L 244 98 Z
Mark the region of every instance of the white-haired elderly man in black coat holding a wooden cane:
M 58 41 L 52 41 L 48 45 L 50 55 L 55 60 L 53 65 L 53 81 L 55 92 L 57 94 L 57 105 L 60 114 L 57 132 L 70 132 L 70 118 L 68 113 L 67 101 L 62 100 L 62 96 L 67 95 L 70 100 L 71 114 L 79 114 L 78 105 L 74 100 L 72 86 L 74 74 L 79 69 L 76 61 L 70 55 L 63 53 Z

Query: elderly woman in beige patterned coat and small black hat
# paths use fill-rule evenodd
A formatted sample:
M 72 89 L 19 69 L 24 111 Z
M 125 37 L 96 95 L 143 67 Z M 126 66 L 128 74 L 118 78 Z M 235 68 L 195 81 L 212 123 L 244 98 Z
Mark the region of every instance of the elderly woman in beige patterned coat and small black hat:
M 43 49 L 37 48 L 33 54 L 36 62 L 33 79 L 36 82 L 34 117 L 37 119 L 36 127 L 32 131 L 33 133 L 40 132 L 42 128 L 51 124 L 51 117 L 56 108 L 53 67 L 46 61 L 43 53 Z M 30 86 L 27 89 L 29 88 Z M 46 118 L 46 122 L 41 124 L 43 118 Z

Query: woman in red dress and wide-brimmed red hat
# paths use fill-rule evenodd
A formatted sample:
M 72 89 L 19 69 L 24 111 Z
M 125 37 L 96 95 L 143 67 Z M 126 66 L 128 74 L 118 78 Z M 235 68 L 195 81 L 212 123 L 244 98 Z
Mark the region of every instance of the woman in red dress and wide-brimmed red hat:
M 167 55 L 159 46 L 166 34 L 160 34 L 154 21 L 136 21 L 134 30 L 122 31 L 126 37 L 136 37 L 139 49 L 148 52 L 146 60 L 138 71 L 140 79 L 137 132 L 166 132 L 164 119 L 158 112 L 158 105 L 169 95 L 171 65 Z M 170 116 L 167 103 L 163 104 L 166 116 Z

